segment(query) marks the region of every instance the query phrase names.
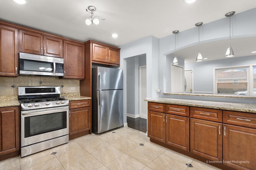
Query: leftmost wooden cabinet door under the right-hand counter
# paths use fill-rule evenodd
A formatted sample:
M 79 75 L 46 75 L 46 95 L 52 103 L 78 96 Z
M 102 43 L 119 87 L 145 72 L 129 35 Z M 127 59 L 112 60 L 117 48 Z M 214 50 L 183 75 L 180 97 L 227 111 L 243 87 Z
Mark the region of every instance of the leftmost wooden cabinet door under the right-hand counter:
M 165 143 L 165 114 L 148 111 L 148 137 Z

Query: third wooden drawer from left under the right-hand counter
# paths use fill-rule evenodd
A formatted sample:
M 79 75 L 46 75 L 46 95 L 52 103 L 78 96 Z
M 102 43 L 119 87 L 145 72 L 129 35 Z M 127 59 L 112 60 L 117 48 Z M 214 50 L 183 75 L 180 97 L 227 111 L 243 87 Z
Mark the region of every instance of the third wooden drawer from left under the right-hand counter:
M 190 107 L 190 117 L 222 122 L 222 110 L 202 107 Z

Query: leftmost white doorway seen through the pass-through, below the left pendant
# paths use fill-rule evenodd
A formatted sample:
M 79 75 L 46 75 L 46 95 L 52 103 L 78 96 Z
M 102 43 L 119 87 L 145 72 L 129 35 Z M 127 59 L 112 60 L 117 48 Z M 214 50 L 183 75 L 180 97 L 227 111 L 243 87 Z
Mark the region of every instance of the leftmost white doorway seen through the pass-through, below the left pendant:
M 171 92 L 183 93 L 183 70 L 180 66 L 171 65 Z

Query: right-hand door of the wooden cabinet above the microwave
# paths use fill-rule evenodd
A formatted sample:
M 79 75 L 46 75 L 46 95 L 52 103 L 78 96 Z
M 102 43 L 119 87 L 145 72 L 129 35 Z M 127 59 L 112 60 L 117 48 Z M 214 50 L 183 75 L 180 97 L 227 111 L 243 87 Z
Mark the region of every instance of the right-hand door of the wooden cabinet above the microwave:
M 44 55 L 63 58 L 63 40 L 44 36 Z

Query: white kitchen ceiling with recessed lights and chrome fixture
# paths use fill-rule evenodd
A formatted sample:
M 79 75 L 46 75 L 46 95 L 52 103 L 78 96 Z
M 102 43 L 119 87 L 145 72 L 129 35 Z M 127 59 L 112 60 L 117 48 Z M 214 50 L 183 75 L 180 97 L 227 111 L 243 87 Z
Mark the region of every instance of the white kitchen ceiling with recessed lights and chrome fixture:
M 86 25 L 90 5 L 96 7 L 95 16 L 106 20 Z M 93 39 L 121 46 L 150 35 L 166 37 L 173 30 L 184 31 L 197 22 L 209 23 L 225 18 L 227 12 L 252 8 L 256 0 L 197 0 L 193 4 L 184 0 L 27 0 L 26 5 L 0 0 L 0 20 L 82 42 Z M 112 33 L 119 37 L 112 38 Z

